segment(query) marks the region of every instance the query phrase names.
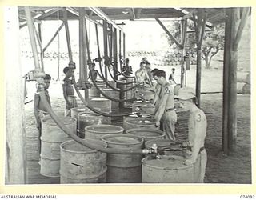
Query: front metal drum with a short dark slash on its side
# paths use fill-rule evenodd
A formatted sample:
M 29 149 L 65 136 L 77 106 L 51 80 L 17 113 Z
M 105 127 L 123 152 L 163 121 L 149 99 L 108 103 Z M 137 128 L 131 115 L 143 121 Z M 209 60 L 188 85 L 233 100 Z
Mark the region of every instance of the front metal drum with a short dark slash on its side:
M 106 147 L 99 140 L 86 140 L 91 144 Z M 106 153 L 91 150 L 74 140 L 63 142 L 61 149 L 61 183 L 106 182 Z

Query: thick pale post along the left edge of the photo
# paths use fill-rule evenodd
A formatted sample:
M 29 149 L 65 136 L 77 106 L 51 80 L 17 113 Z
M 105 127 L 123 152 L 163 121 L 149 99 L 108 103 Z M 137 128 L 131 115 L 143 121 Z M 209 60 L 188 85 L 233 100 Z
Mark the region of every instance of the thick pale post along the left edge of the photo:
M 27 8 L 29 12 L 29 9 Z M 26 132 L 18 7 L 4 9 L 4 66 L 6 80 L 6 184 L 26 183 Z M 31 18 L 29 20 L 31 22 Z M 32 22 L 31 22 L 32 23 Z M 32 24 L 30 24 L 32 27 Z M 33 30 L 33 29 L 31 29 Z M 35 42 L 35 39 L 34 39 Z

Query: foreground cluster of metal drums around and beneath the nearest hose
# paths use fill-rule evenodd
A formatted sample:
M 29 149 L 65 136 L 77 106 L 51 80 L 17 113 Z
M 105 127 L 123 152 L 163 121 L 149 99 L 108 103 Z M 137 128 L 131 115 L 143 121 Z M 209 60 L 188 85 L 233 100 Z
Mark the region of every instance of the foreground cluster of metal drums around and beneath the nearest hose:
M 76 134 L 75 118 L 59 118 Z M 195 166 L 183 164 L 185 150 L 165 140 L 164 133 L 154 128 L 154 122 L 146 118 L 126 118 L 125 121 L 126 128 L 86 126 L 85 138 L 102 147 L 122 150 L 150 148 L 156 143 L 165 155 L 154 159 L 143 158 L 142 154 L 106 154 L 90 150 L 70 140 L 50 117 L 46 117 L 42 120 L 41 174 L 60 177 L 61 183 L 194 182 Z

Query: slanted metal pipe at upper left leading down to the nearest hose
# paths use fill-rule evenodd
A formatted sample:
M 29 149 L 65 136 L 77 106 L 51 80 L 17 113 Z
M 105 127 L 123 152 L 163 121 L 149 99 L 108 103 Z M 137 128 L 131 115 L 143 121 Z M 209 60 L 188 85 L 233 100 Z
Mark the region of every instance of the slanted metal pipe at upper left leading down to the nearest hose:
M 24 9 L 26 14 L 27 27 L 29 29 L 29 34 L 30 34 L 30 43 L 31 43 L 33 58 L 34 58 L 34 69 L 39 70 L 40 65 L 39 65 L 39 58 L 38 58 L 38 49 L 37 49 L 37 44 L 34 38 L 34 28 L 33 28 L 31 13 L 30 13 L 30 7 L 26 6 L 24 7 Z

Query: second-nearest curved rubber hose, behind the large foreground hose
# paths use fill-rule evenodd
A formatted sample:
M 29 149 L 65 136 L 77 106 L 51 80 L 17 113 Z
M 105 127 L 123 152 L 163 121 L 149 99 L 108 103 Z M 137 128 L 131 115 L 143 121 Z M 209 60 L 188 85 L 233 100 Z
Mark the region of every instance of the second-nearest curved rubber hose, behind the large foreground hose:
M 105 113 L 105 112 L 102 112 L 102 111 L 99 111 L 99 110 L 96 110 L 94 109 L 93 106 L 90 106 L 88 102 L 86 102 L 85 98 L 82 97 L 82 94 L 80 93 L 80 91 L 78 90 L 78 86 L 75 82 L 75 78 L 74 78 L 74 75 L 72 76 L 73 78 L 73 81 L 74 81 L 74 89 L 75 91 L 77 92 L 78 94 L 78 97 L 81 99 L 81 101 L 83 102 L 84 106 L 88 107 L 90 110 L 93 110 L 94 113 L 97 113 L 97 114 L 100 114 L 100 115 L 103 115 L 105 117 L 123 117 L 123 116 L 129 116 L 131 114 L 138 114 L 136 112 L 134 113 L 127 113 L 127 114 L 109 114 L 109 113 Z

